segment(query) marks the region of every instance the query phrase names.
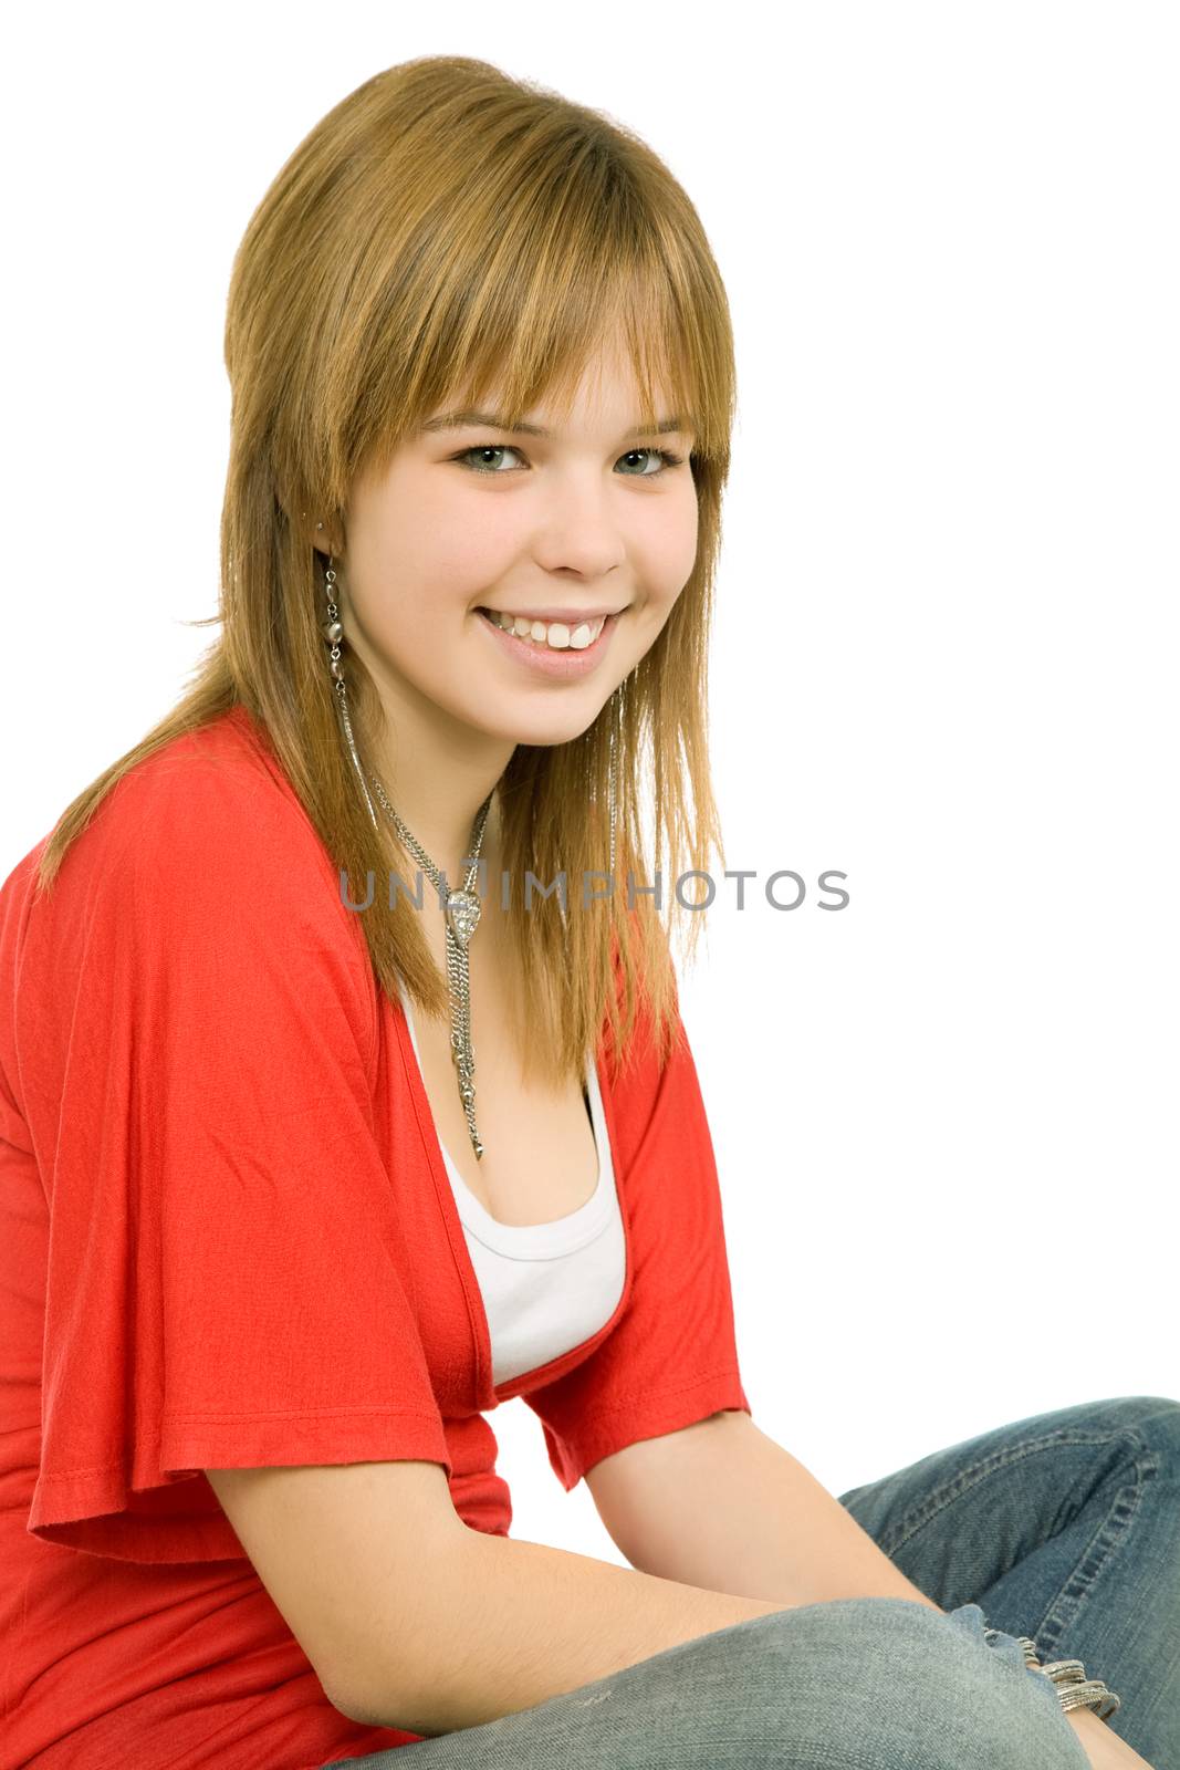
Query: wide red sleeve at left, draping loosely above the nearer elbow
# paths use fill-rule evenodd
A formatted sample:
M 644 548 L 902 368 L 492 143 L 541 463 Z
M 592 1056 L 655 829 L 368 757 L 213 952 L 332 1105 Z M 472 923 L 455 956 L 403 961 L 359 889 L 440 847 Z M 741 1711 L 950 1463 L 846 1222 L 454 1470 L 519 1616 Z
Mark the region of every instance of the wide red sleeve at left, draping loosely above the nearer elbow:
M 200 754 L 127 775 L 32 910 L 21 991 L 50 1205 L 28 1529 L 241 1556 L 207 1467 L 449 1476 L 375 1136 L 372 970 L 294 795 Z

